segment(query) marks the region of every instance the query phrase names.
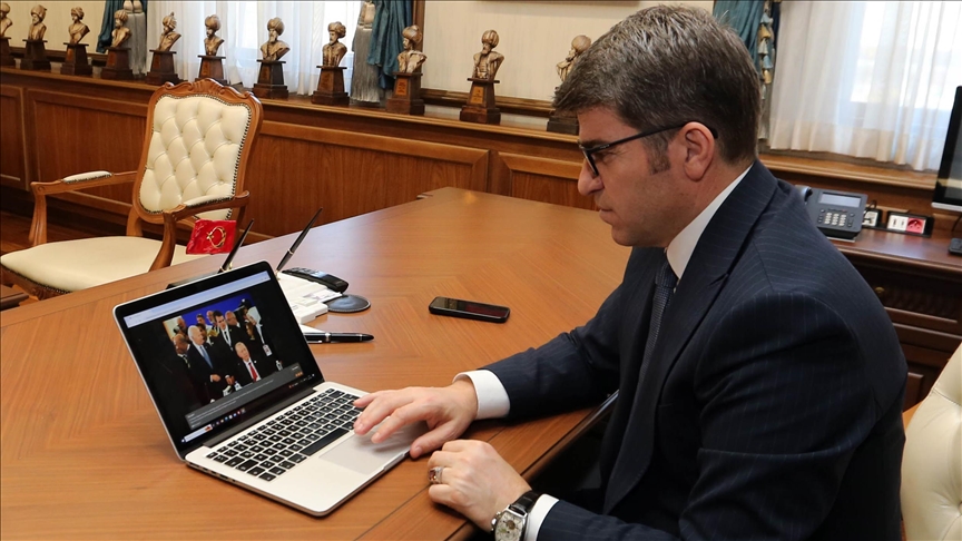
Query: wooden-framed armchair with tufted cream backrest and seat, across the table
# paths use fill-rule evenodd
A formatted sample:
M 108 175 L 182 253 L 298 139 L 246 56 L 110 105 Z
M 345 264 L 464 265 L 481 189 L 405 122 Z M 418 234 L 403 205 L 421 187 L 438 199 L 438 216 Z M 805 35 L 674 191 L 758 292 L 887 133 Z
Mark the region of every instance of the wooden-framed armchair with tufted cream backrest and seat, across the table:
M 38 298 L 94 287 L 203 257 L 187 255 L 176 244 L 180 220 L 243 220 L 249 195 L 242 191 L 244 171 L 261 129 L 261 101 L 204 79 L 164 85 L 147 110 L 136 171 L 85 173 L 31 185 L 32 247 L 0 257 L 4 284 Z M 48 195 L 130 181 L 134 201 L 127 236 L 47 243 Z M 143 236 L 145 222 L 164 225 L 163 240 Z

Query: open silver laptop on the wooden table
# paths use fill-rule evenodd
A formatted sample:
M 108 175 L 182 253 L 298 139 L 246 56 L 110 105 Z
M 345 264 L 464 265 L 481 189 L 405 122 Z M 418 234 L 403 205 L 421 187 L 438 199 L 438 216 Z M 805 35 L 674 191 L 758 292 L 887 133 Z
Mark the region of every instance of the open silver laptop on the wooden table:
M 324 380 L 267 263 L 118 305 L 114 317 L 177 455 L 306 513 L 330 513 L 426 430 L 380 444 L 354 434 L 352 402 L 365 393 Z

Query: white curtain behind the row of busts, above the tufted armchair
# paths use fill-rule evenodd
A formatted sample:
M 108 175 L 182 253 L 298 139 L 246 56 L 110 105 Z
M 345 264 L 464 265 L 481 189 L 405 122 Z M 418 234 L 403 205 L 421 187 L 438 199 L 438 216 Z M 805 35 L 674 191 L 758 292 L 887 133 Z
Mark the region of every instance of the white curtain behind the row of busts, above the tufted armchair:
M 282 58 L 284 83 L 291 94 L 312 94 L 317 88 L 321 70 L 321 48 L 327 43 L 327 24 L 341 21 L 347 36 L 341 42 L 350 49 L 357 27 L 362 2 L 353 1 L 190 1 L 151 0 L 147 9 L 147 46 L 156 47 L 160 40 L 161 19 L 171 11 L 177 19 L 176 31 L 180 39 L 171 48 L 177 52 L 177 72 L 181 79 L 194 80 L 200 69 L 199 55 L 204 55 L 206 27 L 204 19 L 216 13 L 220 18 L 224 39 L 219 55 L 224 60 L 224 77 L 233 85 L 253 87 L 257 82 L 261 45 L 267 41 L 267 21 L 279 17 L 284 21 L 284 33 L 278 37 L 291 50 Z M 150 53 L 148 52 L 148 56 Z M 352 53 L 341 61 L 347 67 L 345 85 L 350 80 Z M 150 59 L 148 58 L 149 62 Z M 148 63 L 149 66 L 149 63 Z

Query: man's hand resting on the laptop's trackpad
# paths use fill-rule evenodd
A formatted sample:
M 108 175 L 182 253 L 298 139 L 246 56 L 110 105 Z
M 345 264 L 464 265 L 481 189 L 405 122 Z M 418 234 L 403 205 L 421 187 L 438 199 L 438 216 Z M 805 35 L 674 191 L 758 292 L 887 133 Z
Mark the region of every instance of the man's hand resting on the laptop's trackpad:
M 379 391 L 357 399 L 354 405 L 364 409 L 354 422 L 355 433 L 364 435 L 381 423 L 371 436 L 374 443 L 408 424 L 428 422 L 431 430 L 411 444 L 411 458 L 416 459 L 464 433 L 478 414 L 478 394 L 470 380 L 460 380 L 446 387 Z

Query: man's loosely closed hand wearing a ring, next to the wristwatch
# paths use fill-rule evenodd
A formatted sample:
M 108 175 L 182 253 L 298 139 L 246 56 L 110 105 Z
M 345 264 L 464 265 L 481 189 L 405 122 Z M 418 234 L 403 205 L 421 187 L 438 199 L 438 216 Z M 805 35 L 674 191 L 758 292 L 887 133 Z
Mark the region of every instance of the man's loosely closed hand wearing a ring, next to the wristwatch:
M 531 490 L 488 442 L 455 440 L 431 455 L 429 468 L 444 468 L 428 495 L 491 531 L 491 519 Z

